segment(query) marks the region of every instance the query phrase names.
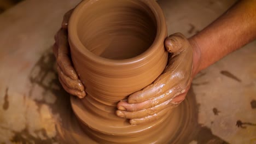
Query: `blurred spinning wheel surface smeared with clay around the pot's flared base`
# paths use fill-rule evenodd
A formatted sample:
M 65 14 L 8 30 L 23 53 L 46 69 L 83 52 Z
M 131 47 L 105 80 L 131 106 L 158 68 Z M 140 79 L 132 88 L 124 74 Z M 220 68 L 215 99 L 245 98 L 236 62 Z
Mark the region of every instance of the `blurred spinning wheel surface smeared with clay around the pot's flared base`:
M 172 114 L 166 118 L 166 121 L 161 125 L 157 135 L 150 137 L 150 139 L 141 139 L 140 136 L 130 137 L 129 141 L 125 141 L 120 137 L 119 143 L 183 143 L 189 140 L 193 135 L 191 131 L 196 127 L 196 102 L 194 97 L 189 97 L 180 106 L 173 110 Z M 73 97 L 72 101 L 75 100 Z M 73 107 L 74 108 L 74 107 Z M 195 108 L 195 109 L 192 109 Z M 76 108 L 75 108 L 76 109 Z M 81 122 L 81 121 L 80 121 Z M 81 124 L 84 125 L 84 124 Z M 62 142 L 64 143 L 98 143 L 101 140 L 95 140 L 95 136 L 88 136 L 79 121 L 74 117 L 71 112 L 66 118 L 62 118 L 62 124 L 58 125 L 58 131 L 61 135 Z M 84 125 L 85 126 L 85 125 Z M 97 138 L 96 138 L 97 139 Z M 110 137 L 111 140 L 111 137 Z M 117 140 L 117 139 L 115 139 Z M 113 143 L 113 142 L 104 142 Z

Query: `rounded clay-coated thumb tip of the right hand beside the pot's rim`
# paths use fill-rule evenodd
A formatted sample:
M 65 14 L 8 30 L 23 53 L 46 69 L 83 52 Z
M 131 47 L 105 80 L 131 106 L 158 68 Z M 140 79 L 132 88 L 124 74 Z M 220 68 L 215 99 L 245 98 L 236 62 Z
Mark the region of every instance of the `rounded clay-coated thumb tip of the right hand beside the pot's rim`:
M 171 53 L 182 52 L 188 45 L 188 39 L 181 33 L 174 33 L 165 39 L 165 49 Z

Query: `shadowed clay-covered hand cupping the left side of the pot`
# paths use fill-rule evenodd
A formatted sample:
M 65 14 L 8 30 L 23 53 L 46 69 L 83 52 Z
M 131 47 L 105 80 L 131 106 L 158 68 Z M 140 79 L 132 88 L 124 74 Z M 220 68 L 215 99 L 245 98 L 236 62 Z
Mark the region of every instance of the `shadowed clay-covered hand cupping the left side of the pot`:
M 70 94 L 79 98 L 84 98 L 83 83 L 78 79 L 77 73 L 71 63 L 70 49 L 68 44 L 68 20 L 72 14 L 69 10 L 63 17 L 61 29 L 55 35 L 55 44 L 53 46 L 54 55 L 57 59 L 57 72 L 62 87 Z

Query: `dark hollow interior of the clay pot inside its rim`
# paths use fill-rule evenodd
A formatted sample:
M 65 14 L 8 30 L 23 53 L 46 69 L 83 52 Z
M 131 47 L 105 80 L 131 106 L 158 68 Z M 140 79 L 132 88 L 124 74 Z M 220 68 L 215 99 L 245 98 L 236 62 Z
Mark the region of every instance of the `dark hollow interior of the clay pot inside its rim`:
M 93 14 L 93 15 L 92 15 Z M 128 59 L 152 45 L 156 22 L 130 1 L 98 1 L 86 9 L 78 37 L 89 51 L 108 59 Z

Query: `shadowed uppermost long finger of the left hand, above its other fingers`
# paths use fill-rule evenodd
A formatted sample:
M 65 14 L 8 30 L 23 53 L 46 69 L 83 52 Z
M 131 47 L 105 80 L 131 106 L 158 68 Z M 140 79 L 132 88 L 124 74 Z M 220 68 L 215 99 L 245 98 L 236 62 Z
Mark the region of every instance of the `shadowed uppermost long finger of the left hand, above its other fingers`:
M 58 46 L 57 63 L 60 65 L 61 70 L 71 79 L 78 80 L 77 73 L 75 73 L 75 70 L 71 64 L 71 58 L 69 58 L 70 51 L 67 32 L 65 29 L 60 29 L 60 31 L 57 33 L 56 43 Z

